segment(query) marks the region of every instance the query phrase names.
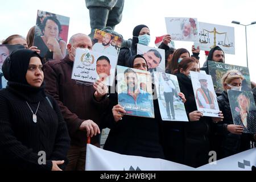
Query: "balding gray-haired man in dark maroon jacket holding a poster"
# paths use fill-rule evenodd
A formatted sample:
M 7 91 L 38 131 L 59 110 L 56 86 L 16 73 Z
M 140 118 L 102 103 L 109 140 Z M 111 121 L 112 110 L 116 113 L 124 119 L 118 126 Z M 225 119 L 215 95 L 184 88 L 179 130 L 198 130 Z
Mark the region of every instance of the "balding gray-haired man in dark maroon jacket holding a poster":
M 68 55 L 63 60 L 48 61 L 44 64 L 46 90 L 57 101 L 71 137 L 68 151 L 69 164 L 66 170 L 85 170 L 86 139 L 100 146 L 100 113 L 106 103 L 102 87 L 71 79 L 76 48 L 92 49 L 88 35 L 75 34 L 67 45 Z M 100 82 L 100 81 L 98 81 Z M 101 83 L 100 83 L 101 84 Z M 92 120 L 91 120 L 92 119 Z

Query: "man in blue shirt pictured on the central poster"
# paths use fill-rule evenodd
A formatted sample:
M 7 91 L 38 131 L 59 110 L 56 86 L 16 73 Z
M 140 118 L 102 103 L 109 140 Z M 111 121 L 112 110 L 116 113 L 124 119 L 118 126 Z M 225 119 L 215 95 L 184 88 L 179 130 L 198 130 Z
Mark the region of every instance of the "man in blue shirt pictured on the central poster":
M 148 112 L 153 107 L 152 96 L 139 87 L 137 73 L 128 68 L 124 75 L 127 91 L 118 94 L 119 105 L 125 108 L 126 114 L 152 117 L 153 113 Z

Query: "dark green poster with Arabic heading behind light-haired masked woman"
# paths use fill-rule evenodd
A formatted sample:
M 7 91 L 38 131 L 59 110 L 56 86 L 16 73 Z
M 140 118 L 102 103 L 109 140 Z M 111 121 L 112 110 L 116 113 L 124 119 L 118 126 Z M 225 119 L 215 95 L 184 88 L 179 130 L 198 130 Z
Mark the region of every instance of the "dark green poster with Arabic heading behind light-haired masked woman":
M 249 68 L 241 67 L 238 65 L 219 63 L 215 61 L 208 61 L 209 75 L 212 76 L 214 90 L 216 93 L 221 93 L 224 91 L 222 86 L 221 78 L 225 75 L 229 70 L 238 70 L 243 76 L 242 88 L 243 91 L 251 91 L 251 80 Z

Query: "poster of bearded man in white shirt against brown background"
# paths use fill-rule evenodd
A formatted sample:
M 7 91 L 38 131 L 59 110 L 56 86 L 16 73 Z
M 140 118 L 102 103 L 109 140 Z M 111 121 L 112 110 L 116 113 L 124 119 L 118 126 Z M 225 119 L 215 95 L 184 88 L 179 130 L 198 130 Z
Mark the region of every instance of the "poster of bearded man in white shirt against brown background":
M 117 56 L 122 44 L 122 38 L 109 32 L 96 29 L 93 38 L 93 51 Z

